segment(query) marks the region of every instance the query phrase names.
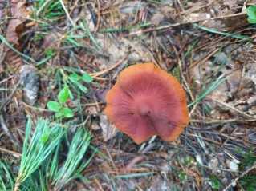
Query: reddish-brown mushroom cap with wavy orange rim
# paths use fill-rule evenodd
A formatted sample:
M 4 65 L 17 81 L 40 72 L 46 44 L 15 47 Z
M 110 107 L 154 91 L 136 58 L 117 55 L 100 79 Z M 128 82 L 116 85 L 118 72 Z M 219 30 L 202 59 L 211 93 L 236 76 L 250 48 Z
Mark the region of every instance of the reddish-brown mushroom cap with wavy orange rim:
M 189 109 L 181 84 L 150 63 L 123 70 L 108 91 L 106 101 L 106 115 L 136 144 L 153 135 L 173 141 L 189 123 Z

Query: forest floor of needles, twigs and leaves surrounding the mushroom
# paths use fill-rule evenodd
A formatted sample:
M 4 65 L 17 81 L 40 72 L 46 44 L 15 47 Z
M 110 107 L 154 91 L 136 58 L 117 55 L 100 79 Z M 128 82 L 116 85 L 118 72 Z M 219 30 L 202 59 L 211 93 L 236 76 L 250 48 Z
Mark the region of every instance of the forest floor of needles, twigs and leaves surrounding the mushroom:
M 246 14 L 254 4 L 0 1 L 0 189 L 256 190 L 256 26 Z M 186 92 L 189 125 L 176 141 L 136 145 L 104 115 L 120 72 L 144 62 L 173 74 Z M 65 87 L 69 97 L 61 98 Z M 61 109 L 49 109 L 49 101 Z M 66 134 L 28 138 L 40 133 L 41 117 Z M 91 139 L 79 137 L 79 128 Z M 89 144 L 79 159 L 69 154 L 73 137 L 74 152 Z M 28 147 L 33 141 L 52 149 L 45 153 L 50 177 L 42 150 Z M 84 180 L 75 172 L 56 176 L 67 161 L 65 173 L 78 170 Z

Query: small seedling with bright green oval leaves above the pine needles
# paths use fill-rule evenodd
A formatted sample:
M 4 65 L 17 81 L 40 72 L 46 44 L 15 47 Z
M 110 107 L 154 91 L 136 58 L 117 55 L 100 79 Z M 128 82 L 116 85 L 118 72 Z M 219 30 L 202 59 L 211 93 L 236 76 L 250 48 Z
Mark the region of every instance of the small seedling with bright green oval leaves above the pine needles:
M 62 90 L 59 91 L 58 100 L 57 101 L 48 101 L 47 108 L 51 111 L 55 112 L 55 117 L 73 117 L 74 114 L 71 109 L 68 107 L 63 107 L 63 104 L 67 102 L 67 98 L 69 97 L 69 87 L 65 86 Z

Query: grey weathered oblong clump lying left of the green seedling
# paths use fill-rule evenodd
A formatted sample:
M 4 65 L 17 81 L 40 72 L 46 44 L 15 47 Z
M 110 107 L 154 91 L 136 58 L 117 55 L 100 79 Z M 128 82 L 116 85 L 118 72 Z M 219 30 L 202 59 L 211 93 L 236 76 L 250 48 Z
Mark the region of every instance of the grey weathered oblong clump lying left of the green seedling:
M 38 69 L 32 65 L 22 66 L 19 74 L 25 91 L 25 101 L 29 105 L 34 105 L 39 94 L 39 74 Z

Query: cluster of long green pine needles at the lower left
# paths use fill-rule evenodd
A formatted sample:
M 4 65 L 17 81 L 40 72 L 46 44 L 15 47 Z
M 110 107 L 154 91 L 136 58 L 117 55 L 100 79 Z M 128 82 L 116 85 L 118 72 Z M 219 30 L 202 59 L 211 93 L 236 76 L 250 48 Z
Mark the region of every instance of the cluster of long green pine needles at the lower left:
M 22 160 L 15 177 L 10 161 L 0 161 L 0 190 L 60 190 L 71 180 L 79 178 L 88 183 L 81 174 L 91 161 L 85 160 L 91 134 L 80 126 L 69 144 L 67 158 L 59 164 L 59 152 L 62 142 L 67 141 L 67 126 L 52 124 L 39 119 L 35 132 L 30 138 L 30 120 L 26 125 Z M 30 141 L 29 141 L 30 140 Z

